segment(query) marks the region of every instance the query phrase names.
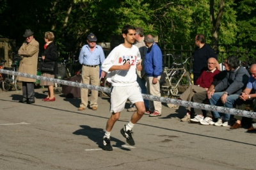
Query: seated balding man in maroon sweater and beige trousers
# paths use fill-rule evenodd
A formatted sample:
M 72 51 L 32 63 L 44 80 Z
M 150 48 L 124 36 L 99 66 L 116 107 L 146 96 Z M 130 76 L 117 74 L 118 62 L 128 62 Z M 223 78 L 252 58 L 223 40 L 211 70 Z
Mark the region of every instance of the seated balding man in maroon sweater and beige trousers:
M 181 100 L 191 101 L 191 98 L 195 93 L 200 91 L 207 91 L 211 86 L 211 83 L 214 79 L 214 76 L 220 73 L 220 71 L 216 68 L 219 65 L 218 61 L 215 58 L 208 59 L 208 70 L 205 70 L 201 73 L 200 77 L 196 80 L 195 85 L 191 85 L 180 95 Z M 188 111 L 186 116 L 181 119 L 181 121 L 189 121 L 190 120 L 190 107 L 188 107 Z

